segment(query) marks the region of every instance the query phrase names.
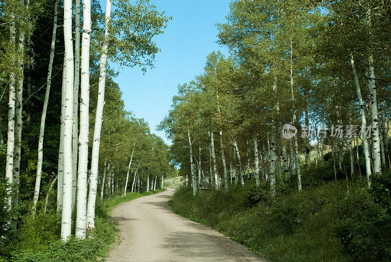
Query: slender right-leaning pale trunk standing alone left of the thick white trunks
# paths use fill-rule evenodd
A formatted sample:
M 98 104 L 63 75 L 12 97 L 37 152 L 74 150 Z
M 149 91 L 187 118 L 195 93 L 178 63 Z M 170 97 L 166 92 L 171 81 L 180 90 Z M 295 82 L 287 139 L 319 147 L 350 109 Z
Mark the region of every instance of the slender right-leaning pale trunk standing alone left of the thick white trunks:
M 44 135 L 44 131 L 45 131 L 46 111 L 47 111 L 47 104 L 49 102 L 49 93 L 50 93 L 50 87 L 51 87 L 52 68 L 53 68 L 53 59 L 54 59 L 54 49 L 55 49 L 55 44 L 56 44 L 58 3 L 59 3 L 59 0 L 56 0 L 56 2 L 54 3 L 52 43 L 50 45 L 49 66 L 47 69 L 47 78 L 46 78 L 47 84 L 46 84 L 45 98 L 43 100 L 40 137 L 39 137 L 39 141 L 38 141 L 38 162 L 37 162 L 37 176 L 35 179 L 35 190 L 34 190 L 34 197 L 33 197 L 33 214 L 35 214 L 35 207 L 37 205 L 38 197 L 40 195 L 40 188 L 41 188 L 41 173 L 42 173 L 42 162 L 43 162 L 43 135 Z

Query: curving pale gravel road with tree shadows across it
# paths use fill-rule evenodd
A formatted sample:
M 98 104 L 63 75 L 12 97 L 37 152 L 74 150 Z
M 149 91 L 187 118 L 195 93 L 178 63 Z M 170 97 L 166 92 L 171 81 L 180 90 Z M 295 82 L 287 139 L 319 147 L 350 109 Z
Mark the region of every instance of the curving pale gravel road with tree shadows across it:
M 265 262 L 217 231 L 174 214 L 167 201 L 173 189 L 116 206 L 119 228 L 109 262 Z

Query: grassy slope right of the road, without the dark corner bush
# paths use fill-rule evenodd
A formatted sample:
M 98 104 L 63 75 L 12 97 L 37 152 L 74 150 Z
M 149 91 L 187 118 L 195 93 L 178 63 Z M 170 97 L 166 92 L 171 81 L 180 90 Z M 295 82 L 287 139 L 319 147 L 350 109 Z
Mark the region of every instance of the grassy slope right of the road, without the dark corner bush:
M 182 187 L 169 204 L 175 213 L 217 229 L 272 262 L 360 261 L 346 251 L 336 226 L 368 202 L 367 189 L 350 184 L 347 197 L 346 182 L 339 181 L 276 197 L 260 190 L 256 206 L 249 200 L 251 190 L 249 185 L 193 196 Z

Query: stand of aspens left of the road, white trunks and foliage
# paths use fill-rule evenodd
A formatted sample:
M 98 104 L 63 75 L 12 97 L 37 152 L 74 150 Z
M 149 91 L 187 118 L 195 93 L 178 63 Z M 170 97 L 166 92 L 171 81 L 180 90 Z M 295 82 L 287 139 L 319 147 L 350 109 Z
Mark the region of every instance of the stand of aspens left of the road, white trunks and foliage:
M 113 81 L 153 68 L 171 17 L 149 0 L 107 0 L 105 13 L 96 0 L 6 0 L 0 14 L 1 260 L 28 220 L 53 214 L 44 241 L 85 239 L 97 198 L 162 188 L 174 169 Z

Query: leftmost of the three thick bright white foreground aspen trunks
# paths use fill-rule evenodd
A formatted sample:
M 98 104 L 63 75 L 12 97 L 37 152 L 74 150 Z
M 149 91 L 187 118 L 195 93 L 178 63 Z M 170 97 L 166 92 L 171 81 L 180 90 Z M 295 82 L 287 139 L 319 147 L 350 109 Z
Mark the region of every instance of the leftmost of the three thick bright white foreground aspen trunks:
M 65 41 L 65 118 L 64 118 L 64 191 L 61 219 L 61 239 L 71 235 L 72 222 L 72 126 L 73 126 L 73 40 L 72 0 L 64 0 Z

